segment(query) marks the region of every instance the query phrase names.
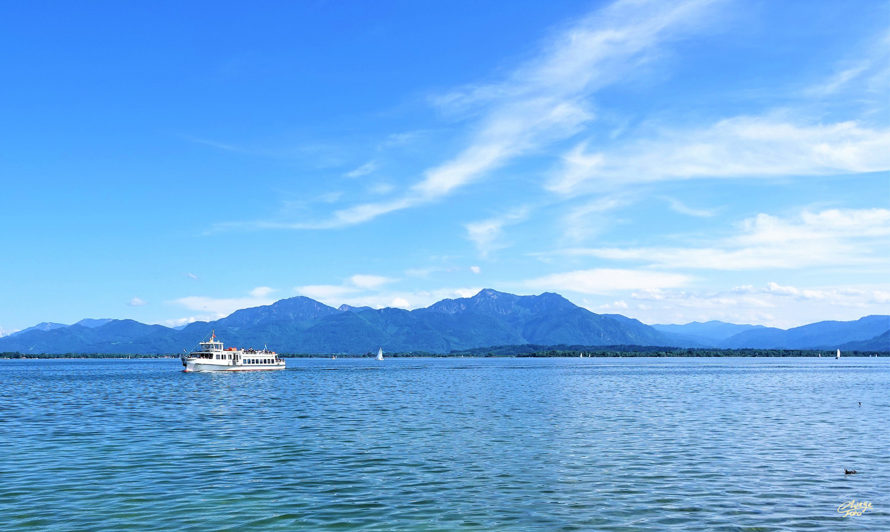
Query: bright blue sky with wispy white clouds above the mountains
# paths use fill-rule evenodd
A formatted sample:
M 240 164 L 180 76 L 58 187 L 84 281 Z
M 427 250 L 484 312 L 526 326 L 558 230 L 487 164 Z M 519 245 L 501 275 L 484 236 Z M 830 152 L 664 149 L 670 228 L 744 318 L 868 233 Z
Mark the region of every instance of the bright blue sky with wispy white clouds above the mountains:
M 0 6 L 0 332 L 890 313 L 886 2 Z

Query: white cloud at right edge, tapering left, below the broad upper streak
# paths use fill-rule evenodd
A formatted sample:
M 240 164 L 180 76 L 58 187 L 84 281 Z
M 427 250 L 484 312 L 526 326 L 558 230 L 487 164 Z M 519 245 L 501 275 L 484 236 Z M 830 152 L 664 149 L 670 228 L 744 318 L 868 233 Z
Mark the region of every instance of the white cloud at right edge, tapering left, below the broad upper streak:
M 569 249 L 563 253 L 670 268 L 705 270 L 797 269 L 887 262 L 890 210 L 828 209 L 786 219 L 758 214 L 739 224 L 739 233 L 708 247 Z

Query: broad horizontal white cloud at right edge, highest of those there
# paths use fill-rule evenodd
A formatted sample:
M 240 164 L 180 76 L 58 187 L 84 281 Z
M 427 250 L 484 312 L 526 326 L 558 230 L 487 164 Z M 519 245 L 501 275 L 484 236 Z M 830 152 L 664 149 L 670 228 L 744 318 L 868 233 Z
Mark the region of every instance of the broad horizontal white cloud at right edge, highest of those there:
M 704 129 L 659 131 L 607 151 L 581 142 L 562 159 L 548 185 L 562 194 L 634 182 L 880 172 L 890 169 L 890 129 L 734 117 Z

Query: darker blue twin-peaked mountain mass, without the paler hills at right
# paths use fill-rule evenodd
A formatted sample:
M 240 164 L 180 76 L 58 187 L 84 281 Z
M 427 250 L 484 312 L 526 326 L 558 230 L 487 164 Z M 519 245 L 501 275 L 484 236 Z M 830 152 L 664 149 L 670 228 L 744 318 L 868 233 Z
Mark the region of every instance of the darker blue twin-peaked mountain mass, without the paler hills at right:
M 92 324 L 91 324 L 92 325 Z M 425 309 L 335 309 L 308 297 L 242 309 L 214 322 L 174 330 L 133 320 L 32 330 L 0 338 L 0 351 L 170 353 L 190 350 L 211 329 L 227 345 L 279 352 L 449 352 L 523 343 L 677 345 L 651 326 L 582 309 L 559 294 L 514 295 L 485 289 Z

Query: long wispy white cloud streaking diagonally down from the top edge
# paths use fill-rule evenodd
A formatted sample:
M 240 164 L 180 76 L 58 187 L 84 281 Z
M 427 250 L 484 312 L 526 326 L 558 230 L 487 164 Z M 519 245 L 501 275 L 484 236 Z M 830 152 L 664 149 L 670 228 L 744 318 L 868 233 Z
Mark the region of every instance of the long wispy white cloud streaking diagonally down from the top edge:
M 538 58 L 503 83 L 469 87 L 438 99 L 446 112 L 473 109 L 479 117 L 469 145 L 428 169 L 402 197 L 337 211 L 333 221 L 316 227 L 365 222 L 433 201 L 515 157 L 578 133 L 593 119 L 587 96 L 626 78 L 628 71 L 657 54 L 659 45 L 707 20 L 708 4 L 714 2 L 620 0 L 554 38 Z

